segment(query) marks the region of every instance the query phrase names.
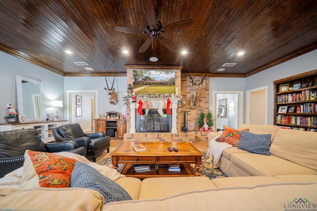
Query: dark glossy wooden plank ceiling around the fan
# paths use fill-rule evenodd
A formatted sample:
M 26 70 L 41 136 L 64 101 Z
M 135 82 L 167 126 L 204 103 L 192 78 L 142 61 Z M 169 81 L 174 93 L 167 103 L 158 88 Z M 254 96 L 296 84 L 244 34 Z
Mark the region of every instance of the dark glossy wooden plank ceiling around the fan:
M 247 77 L 317 49 L 317 0 L 154 0 L 154 7 L 163 26 L 193 19 L 186 29 L 162 33 L 178 47 L 174 52 L 155 39 L 139 53 L 148 34 L 114 29 L 145 30 L 141 0 L 3 0 L 0 50 L 63 76 L 123 76 L 125 65 L 163 65 Z M 237 64 L 218 72 L 224 63 Z

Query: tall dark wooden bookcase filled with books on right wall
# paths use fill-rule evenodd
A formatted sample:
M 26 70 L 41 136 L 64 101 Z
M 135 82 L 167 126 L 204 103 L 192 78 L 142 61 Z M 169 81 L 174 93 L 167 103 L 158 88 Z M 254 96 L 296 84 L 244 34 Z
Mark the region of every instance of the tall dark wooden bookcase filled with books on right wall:
M 317 131 L 317 70 L 274 81 L 274 125 Z

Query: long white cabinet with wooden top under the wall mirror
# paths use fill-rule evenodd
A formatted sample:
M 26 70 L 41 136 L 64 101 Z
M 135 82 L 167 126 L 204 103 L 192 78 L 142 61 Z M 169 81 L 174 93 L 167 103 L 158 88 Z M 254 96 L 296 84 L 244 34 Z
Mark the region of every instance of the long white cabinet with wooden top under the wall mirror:
M 64 125 L 66 122 L 67 120 L 0 124 L 0 131 L 35 128 L 43 142 L 52 142 L 54 140 L 52 128 Z

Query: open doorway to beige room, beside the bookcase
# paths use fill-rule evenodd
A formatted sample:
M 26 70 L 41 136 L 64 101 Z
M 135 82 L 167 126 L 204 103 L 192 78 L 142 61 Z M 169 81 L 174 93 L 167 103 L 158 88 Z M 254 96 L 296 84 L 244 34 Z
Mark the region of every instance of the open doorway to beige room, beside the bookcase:
M 246 124 L 267 125 L 267 86 L 246 91 Z

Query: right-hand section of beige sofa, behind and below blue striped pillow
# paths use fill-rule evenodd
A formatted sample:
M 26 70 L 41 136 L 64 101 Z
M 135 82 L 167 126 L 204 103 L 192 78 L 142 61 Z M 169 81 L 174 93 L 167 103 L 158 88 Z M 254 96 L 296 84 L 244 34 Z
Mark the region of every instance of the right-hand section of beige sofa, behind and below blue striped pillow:
M 219 169 L 228 176 L 317 174 L 317 133 L 273 125 L 242 125 L 254 134 L 271 134 L 270 156 L 232 147 L 223 150 Z M 216 133 L 208 135 L 211 140 Z

